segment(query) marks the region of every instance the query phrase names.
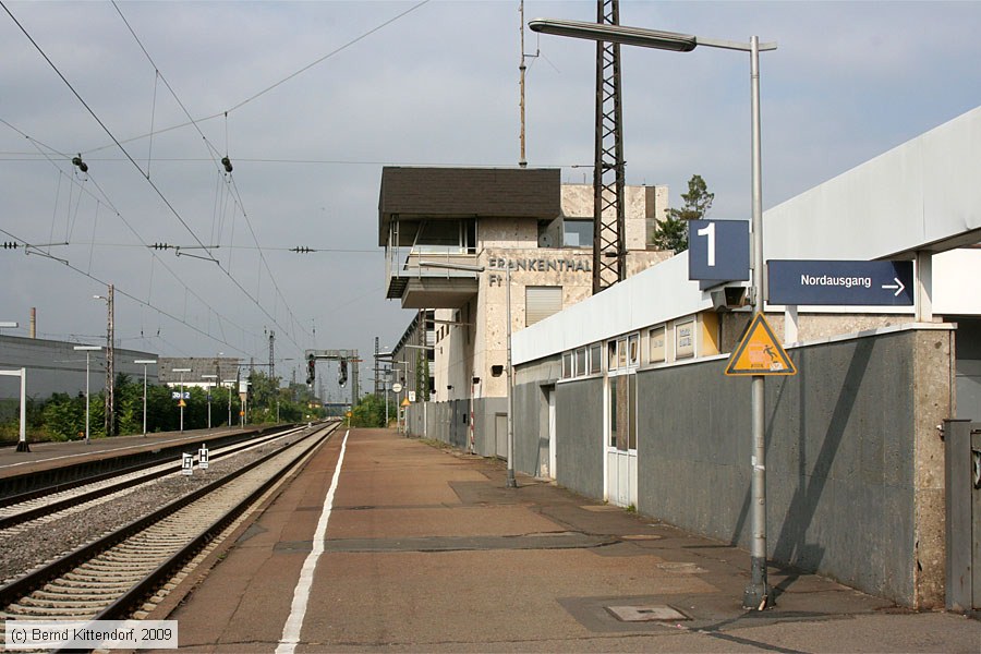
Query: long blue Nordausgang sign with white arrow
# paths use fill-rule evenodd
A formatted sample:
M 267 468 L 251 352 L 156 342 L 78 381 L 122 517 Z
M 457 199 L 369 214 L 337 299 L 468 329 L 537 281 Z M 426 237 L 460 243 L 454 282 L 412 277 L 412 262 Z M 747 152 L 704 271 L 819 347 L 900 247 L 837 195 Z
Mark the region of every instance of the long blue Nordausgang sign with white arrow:
M 912 306 L 912 262 L 766 262 L 771 304 Z

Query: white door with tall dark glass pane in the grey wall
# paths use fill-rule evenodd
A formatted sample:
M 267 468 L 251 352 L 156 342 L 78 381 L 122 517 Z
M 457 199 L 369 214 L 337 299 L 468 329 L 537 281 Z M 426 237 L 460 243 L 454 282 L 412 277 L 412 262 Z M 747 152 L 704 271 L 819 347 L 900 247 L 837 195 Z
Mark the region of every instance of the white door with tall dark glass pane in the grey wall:
M 637 506 L 637 373 L 607 377 L 606 500 Z

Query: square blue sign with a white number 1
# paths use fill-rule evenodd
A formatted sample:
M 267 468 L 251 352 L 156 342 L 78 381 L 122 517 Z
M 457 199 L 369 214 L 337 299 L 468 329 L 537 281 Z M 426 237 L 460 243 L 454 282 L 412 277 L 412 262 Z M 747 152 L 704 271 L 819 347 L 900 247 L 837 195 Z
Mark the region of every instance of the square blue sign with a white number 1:
M 749 279 L 749 221 L 689 220 L 688 278 L 702 290 Z

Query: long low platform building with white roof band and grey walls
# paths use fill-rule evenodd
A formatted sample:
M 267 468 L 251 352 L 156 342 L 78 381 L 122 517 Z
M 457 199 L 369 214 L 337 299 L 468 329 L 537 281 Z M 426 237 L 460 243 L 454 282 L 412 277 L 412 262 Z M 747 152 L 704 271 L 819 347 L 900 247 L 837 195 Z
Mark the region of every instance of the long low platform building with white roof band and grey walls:
M 917 608 L 981 566 L 949 508 L 981 514 L 979 477 L 947 482 L 981 452 L 952 453 L 944 427 L 981 432 L 979 153 L 981 108 L 763 216 L 764 261 L 915 262 L 911 306 L 766 302 L 798 372 L 766 379 L 764 468 L 770 560 Z M 724 372 L 751 316 L 689 280 L 689 255 L 516 335 L 514 463 L 746 547 L 750 384 Z

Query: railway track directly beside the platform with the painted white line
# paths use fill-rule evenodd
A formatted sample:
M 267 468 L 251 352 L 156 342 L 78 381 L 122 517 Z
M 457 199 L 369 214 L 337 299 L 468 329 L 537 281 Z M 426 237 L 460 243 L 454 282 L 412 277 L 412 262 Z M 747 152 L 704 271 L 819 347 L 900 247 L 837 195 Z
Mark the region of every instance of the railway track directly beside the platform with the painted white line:
M 161 589 L 174 574 L 230 533 L 250 506 L 308 460 L 338 426 L 314 429 L 289 447 L 0 588 L 0 617 L 142 617 L 147 598 L 159 601 L 166 593 Z

